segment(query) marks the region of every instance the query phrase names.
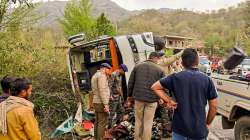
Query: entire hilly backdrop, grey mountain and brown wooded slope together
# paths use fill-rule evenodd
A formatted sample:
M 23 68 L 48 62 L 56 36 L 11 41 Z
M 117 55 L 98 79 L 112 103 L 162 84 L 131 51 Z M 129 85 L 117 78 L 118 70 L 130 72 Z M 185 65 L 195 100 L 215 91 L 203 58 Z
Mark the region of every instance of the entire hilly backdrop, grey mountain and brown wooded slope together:
M 40 20 L 40 27 L 60 29 L 59 18 L 63 18 L 66 1 L 41 3 L 37 12 L 46 15 Z M 118 24 L 118 34 L 154 32 L 157 35 L 181 35 L 196 38 L 205 42 L 207 49 L 218 46 L 215 50 L 223 54 L 242 40 L 244 20 L 244 5 L 198 13 L 187 10 L 162 8 L 158 10 L 128 11 L 110 0 L 92 0 L 92 14 L 97 17 L 104 12 L 108 18 Z M 62 32 L 62 31 L 59 31 Z M 247 50 L 249 49 L 249 46 Z M 209 50 L 207 50 L 209 51 Z

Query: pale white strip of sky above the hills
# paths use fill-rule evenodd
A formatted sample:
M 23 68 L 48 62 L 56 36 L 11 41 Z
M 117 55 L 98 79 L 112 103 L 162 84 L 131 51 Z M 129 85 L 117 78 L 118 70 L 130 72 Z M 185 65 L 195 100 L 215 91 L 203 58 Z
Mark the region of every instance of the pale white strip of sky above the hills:
M 187 8 L 195 11 L 218 10 L 245 0 L 111 0 L 127 10 Z

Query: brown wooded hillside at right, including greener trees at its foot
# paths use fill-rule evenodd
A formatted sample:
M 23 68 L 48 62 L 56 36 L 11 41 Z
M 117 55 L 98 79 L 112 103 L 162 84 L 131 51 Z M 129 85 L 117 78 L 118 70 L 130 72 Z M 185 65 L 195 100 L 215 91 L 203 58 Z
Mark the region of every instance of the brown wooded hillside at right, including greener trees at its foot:
M 245 3 L 238 7 L 220 9 L 211 13 L 187 10 L 147 10 L 129 17 L 118 24 L 119 34 L 152 31 L 157 35 L 181 35 L 203 41 L 207 52 L 222 55 L 234 47 L 236 41 L 243 42 Z M 214 49 L 214 47 L 216 49 Z M 250 50 L 249 45 L 244 45 Z

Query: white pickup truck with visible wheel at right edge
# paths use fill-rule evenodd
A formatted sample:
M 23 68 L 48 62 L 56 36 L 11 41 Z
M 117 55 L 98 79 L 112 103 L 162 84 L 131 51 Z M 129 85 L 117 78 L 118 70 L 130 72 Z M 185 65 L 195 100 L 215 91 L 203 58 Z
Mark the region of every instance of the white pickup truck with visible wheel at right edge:
M 212 77 L 218 91 L 223 129 L 234 128 L 235 140 L 250 140 L 250 82 Z

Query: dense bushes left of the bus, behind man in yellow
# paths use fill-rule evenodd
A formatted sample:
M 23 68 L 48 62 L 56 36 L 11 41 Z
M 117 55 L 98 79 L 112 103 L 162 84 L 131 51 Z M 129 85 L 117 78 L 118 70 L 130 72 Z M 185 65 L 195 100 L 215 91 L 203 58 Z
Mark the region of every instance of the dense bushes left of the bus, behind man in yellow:
M 20 14 L 19 8 L 11 16 Z M 25 18 L 16 18 L 0 32 L 0 78 L 11 75 L 32 79 L 31 101 L 43 139 L 48 139 L 52 129 L 76 109 L 66 66 L 67 50 L 55 48 L 60 34 L 31 26 Z

